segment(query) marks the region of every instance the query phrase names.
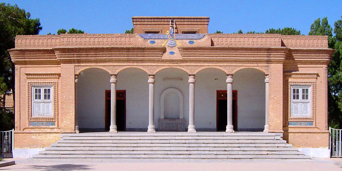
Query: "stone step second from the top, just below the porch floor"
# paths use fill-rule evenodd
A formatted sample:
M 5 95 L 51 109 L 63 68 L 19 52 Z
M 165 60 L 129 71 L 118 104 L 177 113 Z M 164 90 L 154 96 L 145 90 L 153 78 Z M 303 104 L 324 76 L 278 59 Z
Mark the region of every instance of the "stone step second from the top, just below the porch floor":
M 63 140 L 175 140 L 175 139 L 276 139 L 274 136 L 63 136 Z M 280 138 L 278 138 L 280 139 Z

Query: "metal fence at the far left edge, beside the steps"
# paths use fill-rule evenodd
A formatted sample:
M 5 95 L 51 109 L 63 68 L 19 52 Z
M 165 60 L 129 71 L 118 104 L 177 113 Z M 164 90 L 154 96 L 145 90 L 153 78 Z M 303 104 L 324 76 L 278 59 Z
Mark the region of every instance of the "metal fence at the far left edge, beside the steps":
M 0 131 L 0 157 L 13 158 L 14 130 Z

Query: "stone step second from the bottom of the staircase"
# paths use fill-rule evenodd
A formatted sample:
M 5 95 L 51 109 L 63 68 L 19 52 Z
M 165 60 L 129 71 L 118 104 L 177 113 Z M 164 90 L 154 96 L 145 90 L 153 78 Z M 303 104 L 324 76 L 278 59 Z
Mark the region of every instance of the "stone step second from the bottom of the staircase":
M 40 151 L 39 154 L 94 154 L 94 155 L 101 155 L 101 154 L 224 154 L 224 155 L 234 155 L 234 154 L 243 154 L 243 155 L 254 155 L 254 154 L 263 154 L 263 155 L 271 155 L 271 154 L 277 154 L 277 155 L 303 155 L 303 152 L 298 151 L 207 151 L 207 150 L 201 150 L 201 151 L 84 151 L 84 150 L 46 150 L 46 151 Z

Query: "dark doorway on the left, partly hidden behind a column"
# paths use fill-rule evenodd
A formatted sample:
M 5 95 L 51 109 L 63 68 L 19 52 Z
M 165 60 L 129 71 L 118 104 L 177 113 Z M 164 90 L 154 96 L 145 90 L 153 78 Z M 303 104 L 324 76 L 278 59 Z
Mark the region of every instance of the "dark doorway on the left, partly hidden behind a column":
M 110 90 L 106 90 L 105 130 L 110 126 Z M 117 131 L 126 130 L 126 90 L 116 90 L 116 126 Z

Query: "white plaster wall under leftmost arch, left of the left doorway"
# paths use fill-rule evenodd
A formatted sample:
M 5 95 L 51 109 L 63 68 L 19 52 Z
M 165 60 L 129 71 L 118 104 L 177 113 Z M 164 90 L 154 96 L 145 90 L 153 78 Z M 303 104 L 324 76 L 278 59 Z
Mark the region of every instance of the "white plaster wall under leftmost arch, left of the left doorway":
M 97 68 L 86 69 L 79 75 L 79 128 L 105 128 L 105 90 L 110 89 L 110 75 Z

